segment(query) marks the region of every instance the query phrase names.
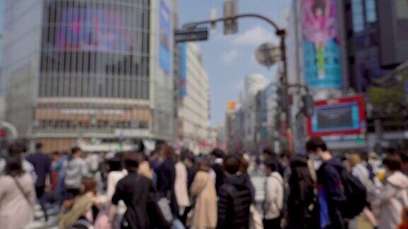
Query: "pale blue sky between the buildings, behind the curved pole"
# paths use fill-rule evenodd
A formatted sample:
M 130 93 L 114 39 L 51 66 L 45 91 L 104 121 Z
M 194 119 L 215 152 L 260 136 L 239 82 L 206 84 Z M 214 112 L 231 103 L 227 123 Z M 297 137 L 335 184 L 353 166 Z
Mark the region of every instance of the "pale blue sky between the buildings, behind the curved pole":
M 212 8 L 222 16 L 221 0 L 179 0 L 180 25 L 191 21 L 210 18 Z M 240 0 L 239 13 L 261 13 L 285 24 L 290 0 Z M 286 12 L 286 13 L 285 13 Z M 203 64 L 210 78 L 211 124 L 224 124 L 228 100 L 237 100 L 242 90 L 244 76 L 260 73 L 272 80 L 275 69 L 268 71 L 257 64 L 254 58 L 256 48 L 263 42 L 275 42 L 273 28 L 261 20 L 244 18 L 238 22 L 236 35 L 222 34 L 223 25 L 217 24 L 217 33 L 210 40 L 200 42 Z

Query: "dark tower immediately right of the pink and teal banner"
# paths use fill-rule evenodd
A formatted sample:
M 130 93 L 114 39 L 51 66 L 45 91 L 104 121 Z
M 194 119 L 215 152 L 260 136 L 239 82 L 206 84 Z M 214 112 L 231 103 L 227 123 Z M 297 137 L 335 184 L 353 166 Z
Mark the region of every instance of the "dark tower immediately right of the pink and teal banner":
M 346 50 L 349 86 L 357 93 L 365 90 L 375 78 L 385 76 L 380 67 L 380 36 L 375 0 L 344 1 Z

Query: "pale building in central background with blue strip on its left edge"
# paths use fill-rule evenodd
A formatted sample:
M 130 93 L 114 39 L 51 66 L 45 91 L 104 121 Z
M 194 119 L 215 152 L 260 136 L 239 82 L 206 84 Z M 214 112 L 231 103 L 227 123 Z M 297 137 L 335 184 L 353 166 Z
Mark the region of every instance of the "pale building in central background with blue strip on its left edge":
M 210 86 L 198 45 L 179 46 L 178 140 L 203 153 L 210 134 Z

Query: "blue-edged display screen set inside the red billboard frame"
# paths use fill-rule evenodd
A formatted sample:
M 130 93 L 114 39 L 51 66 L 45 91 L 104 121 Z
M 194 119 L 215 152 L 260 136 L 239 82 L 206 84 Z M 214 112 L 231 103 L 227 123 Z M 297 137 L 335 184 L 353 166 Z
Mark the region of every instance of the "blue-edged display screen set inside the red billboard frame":
M 312 131 L 341 131 L 358 129 L 359 112 L 357 102 L 314 108 Z

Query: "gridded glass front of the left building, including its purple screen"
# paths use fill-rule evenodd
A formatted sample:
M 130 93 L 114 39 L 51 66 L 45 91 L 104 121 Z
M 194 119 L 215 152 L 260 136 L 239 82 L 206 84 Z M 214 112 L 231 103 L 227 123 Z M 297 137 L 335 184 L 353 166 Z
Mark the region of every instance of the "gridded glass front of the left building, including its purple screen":
M 45 1 L 40 97 L 149 98 L 149 1 Z

